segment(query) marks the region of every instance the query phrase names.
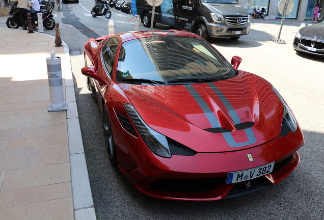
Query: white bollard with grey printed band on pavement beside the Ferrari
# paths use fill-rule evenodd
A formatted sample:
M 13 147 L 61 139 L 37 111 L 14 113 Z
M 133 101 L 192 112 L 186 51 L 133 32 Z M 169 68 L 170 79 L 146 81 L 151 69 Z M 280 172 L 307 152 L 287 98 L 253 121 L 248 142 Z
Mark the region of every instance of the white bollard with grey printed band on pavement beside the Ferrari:
M 48 112 L 66 111 L 67 103 L 64 101 L 61 58 L 55 57 L 55 51 L 46 58 L 50 103 Z

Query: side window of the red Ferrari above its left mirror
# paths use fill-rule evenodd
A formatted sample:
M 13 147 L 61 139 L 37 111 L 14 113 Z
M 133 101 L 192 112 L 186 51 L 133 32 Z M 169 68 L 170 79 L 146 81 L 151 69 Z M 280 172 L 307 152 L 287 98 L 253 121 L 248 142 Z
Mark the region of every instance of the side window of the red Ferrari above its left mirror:
M 111 38 L 102 47 L 103 64 L 110 77 L 112 76 L 112 70 L 114 67 L 118 44 L 119 44 L 119 40 L 117 38 Z

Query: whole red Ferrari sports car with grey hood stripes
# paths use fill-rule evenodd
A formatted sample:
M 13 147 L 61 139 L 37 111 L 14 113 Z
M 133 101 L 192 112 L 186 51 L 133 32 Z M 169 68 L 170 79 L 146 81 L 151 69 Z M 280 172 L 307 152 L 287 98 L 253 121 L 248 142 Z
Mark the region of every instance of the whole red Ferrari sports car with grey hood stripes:
M 89 39 L 88 89 L 112 164 L 145 195 L 219 200 L 275 184 L 304 136 L 277 90 L 185 31 Z

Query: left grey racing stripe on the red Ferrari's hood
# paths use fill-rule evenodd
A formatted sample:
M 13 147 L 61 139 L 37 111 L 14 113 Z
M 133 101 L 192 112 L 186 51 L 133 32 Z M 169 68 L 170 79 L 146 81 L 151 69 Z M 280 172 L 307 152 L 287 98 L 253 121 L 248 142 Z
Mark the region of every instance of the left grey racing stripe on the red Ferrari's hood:
M 210 125 L 212 128 L 221 127 L 220 122 L 217 120 L 215 115 L 212 113 L 210 107 L 207 105 L 205 100 L 199 95 L 199 93 L 193 88 L 191 85 L 186 85 L 185 88 L 190 92 L 190 94 L 194 97 L 204 114 L 206 115 Z

